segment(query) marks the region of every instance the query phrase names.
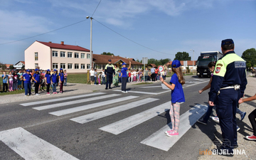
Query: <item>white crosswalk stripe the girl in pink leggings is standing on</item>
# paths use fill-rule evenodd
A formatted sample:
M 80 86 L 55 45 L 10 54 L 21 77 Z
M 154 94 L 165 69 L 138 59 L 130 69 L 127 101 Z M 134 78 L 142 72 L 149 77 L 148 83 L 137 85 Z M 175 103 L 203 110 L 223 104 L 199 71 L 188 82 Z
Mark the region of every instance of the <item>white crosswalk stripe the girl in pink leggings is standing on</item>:
M 161 149 L 164 151 L 168 151 L 171 146 L 173 146 L 178 139 L 180 139 L 188 129 L 196 123 L 196 121 L 202 117 L 202 115 L 206 112 L 207 105 L 196 105 L 191 110 L 183 113 L 180 117 L 180 125 L 178 129 L 178 137 L 167 137 L 164 133 L 166 130 L 169 130 L 171 123 L 167 124 L 163 128 L 159 129 L 159 131 L 151 134 L 148 138 L 144 139 L 141 143 L 146 144 L 148 146 L 153 146 L 154 148 Z

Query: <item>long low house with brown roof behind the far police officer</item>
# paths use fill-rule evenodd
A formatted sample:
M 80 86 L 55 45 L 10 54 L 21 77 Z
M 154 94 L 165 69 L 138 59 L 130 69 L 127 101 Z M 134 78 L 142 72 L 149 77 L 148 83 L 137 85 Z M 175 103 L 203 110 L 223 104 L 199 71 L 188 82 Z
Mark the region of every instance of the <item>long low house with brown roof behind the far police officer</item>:
M 127 63 L 127 68 L 129 67 L 129 61 L 131 61 L 131 69 L 142 69 L 143 64 L 134 60 L 134 58 L 123 58 L 115 55 L 98 55 L 93 54 L 93 63 L 94 68 L 97 70 L 102 70 L 108 63 L 108 60 L 111 60 L 112 64 L 117 65 L 117 68 L 122 68 L 122 63 Z

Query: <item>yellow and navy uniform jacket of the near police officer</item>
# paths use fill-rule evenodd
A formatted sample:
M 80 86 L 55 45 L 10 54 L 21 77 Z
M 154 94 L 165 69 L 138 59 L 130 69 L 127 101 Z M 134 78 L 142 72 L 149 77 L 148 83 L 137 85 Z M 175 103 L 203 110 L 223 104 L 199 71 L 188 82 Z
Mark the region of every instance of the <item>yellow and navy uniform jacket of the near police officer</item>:
M 240 85 L 241 97 L 247 85 L 245 60 L 234 51 L 225 53 L 215 65 L 213 81 L 210 86 L 209 101 L 213 102 L 220 88 Z

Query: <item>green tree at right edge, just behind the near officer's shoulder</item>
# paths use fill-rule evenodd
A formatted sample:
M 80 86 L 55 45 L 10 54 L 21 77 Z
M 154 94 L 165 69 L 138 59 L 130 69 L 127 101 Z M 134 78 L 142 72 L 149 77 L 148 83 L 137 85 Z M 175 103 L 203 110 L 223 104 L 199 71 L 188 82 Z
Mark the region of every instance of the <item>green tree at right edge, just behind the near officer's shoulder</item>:
M 256 65 L 256 50 L 255 48 L 250 48 L 242 53 L 242 59 L 246 61 L 246 67 L 251 68 Z

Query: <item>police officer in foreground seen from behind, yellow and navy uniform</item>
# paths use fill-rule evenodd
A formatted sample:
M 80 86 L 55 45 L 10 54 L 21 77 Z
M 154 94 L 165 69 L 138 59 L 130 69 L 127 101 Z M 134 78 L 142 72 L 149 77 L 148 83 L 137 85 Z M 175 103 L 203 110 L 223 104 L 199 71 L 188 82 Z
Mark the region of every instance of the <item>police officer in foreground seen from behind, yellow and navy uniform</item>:
M 224 55 L 215 65 L 209 92 L 209 105 L 216 105 L 223 137 L 222 146 L 215 151 L 224 156 L 233 156 L 233 149 L 238 146 L 235 113 L 247 85 L 245 60 L 235 54 L 234 48 L 232 39 L 221 42 Z

